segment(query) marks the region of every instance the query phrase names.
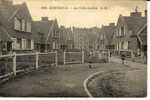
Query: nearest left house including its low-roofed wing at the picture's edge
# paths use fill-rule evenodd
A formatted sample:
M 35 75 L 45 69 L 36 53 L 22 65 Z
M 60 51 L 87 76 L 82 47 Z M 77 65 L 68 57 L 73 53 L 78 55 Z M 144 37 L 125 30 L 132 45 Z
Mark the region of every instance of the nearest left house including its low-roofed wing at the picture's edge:
M 31 30 L 32 18 L 25 3 L 13 5 L 10 0 L 0 0 L 0 51 L 34 49 Z

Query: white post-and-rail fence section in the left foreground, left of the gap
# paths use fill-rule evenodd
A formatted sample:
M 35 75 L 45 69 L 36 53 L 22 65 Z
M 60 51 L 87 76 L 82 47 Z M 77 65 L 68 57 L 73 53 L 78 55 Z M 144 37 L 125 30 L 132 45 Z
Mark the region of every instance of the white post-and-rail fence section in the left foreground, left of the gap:
M 55 56 L 50 55 L 50 54 L 55 54 Z M 32 56 L 32 57 L 30 57 L 30 56 Z M 57 60 L 57 52 L 48 52 L 48 53 L 35 52 L 35 53 L 24 53 L 24 54 L 16 54 L 14 52 L 14 53 L 8 54 L 8 55 L 1 55 L 0 59 L 7 59 L 7 60 L 2 60 L 1 61 L 2 64 L 0 67 L 5 66 L 5 64 L 7 64 L 9 61 L 9 65 L 10 65 L 9 68 L 11 69 L 11 71 L 9 71 L 8 73 L 5 73 L 3 75 L 0 75 L 0 79 L 3 79 L 5 77 L 11 76 L 11 75 L 16 76 L 17 73 L 25 71 L 25 69 L 17 69 L 17 64 L 21 63 L 20 65 L 23 65 L 22 63 L 24 63 L 24 64 L 27 63 L 26 60 L 29 61 L 31 64 L 34 63 L 33 67 L 34 67 L 34 69 L 37 70 L 40 67 L 39 66 L 39 63 L 40 63 L 39 57 L 41 57 L 41 56 L 49 56 L 48 57 L 49 59 L 43 57 L 43 60 L 49 60 L 49 61 L 52 60 L 52 59 L 50 59 L 50 57 L 55 57 L 55 59 L 53 59 L 53 61 L 54 61 L 53 63 L 57 66 L 57 61 L 58 61 Z M 22 57 L 22 58 L 20 58 L 20 57 Z M 27 58 L 25 59 L 25 57 L 27 57 Z M 8 60 L 8 58 L 9 58 L 9 60 Z

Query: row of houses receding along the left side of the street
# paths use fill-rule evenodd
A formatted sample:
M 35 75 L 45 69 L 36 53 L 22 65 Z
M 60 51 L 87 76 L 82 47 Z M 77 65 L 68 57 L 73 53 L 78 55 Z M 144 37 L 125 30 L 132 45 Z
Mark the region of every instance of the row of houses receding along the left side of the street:
M 33 21 L 26 3 L 0 0 L 0 54 L 72 48 L 71 28 L 59 27 L 48 17 Z

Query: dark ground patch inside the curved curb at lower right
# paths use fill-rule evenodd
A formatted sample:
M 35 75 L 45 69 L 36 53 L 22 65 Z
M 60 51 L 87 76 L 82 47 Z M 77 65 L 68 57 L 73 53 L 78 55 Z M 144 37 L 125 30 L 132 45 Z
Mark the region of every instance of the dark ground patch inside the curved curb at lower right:
M 88 84 L 94 97 L 145 97 L 146 70 L 108 71 Z

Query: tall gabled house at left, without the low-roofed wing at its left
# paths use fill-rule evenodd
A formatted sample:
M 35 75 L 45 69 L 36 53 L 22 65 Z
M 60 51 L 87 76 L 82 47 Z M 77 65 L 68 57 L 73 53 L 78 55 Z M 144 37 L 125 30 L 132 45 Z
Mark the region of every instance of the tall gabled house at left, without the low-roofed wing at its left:
M 32 18 L 27 4 L 14 5 L 11 0 L 1 0 L 0 13 L 6 19 L 5 28 L 15 52 L 30 52 L 34 50 L 32 33 Z

